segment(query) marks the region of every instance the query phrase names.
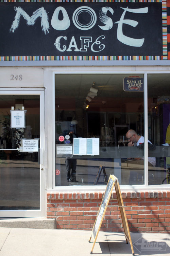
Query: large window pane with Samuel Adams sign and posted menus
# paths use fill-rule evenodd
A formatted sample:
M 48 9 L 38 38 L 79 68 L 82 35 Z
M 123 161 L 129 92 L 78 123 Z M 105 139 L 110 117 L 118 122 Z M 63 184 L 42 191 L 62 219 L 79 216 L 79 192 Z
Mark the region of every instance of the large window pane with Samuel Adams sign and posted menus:
M 142 74 L 55 75 L 56 186 L 104 185 L 110 174 L 144 184 L 142 83 Z

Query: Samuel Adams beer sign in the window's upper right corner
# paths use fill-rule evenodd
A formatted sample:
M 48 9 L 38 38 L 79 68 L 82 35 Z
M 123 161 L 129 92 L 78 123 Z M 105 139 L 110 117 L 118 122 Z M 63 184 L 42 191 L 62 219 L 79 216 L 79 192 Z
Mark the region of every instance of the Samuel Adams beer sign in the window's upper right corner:
M 143 77 L 124 77 L 123 80 L 123 90 L 124 91 L 143 91 L 144 82 Z

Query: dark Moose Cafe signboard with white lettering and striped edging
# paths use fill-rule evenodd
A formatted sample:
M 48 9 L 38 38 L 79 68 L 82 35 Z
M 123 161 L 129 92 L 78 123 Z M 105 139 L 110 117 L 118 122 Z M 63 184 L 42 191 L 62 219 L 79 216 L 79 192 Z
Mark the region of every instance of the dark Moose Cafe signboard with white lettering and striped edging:
M 163 10 L 161 2 L 1 2 L 0 60 L 166 59 Z

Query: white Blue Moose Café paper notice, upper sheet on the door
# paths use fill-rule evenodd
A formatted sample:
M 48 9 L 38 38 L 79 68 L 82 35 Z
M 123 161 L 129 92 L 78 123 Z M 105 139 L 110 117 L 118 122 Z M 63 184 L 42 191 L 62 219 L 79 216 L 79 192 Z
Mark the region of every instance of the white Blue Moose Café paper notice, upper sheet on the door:
M 11 111 L 11 128 L 25 128 L 25 111 Z

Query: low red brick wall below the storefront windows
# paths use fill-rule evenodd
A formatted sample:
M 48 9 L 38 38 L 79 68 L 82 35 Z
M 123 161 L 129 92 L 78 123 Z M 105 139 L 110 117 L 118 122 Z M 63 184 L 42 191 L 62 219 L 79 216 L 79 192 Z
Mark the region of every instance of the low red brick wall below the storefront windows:
M 47 218 L 56 218 L 57 229 L 91 230 L 101 204 L 102 192 L 48 193 Z M 130 232 L 170 232 L 170 190 L 122 192 Z M 113 192 L 101 231 L 123 232 Z

